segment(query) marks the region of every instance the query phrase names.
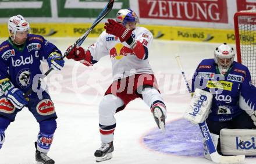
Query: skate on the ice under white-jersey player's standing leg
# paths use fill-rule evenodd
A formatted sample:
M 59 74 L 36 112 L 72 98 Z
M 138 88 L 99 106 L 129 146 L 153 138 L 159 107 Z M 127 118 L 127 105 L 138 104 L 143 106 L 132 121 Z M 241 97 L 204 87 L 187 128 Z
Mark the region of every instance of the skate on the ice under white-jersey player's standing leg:
M 101 147 L 95 151 L 94 156 L 96 157 L 96 162 L 106 161 L 112 158 L 112 152 L 114 151 L 113 141 L 101 144 Z

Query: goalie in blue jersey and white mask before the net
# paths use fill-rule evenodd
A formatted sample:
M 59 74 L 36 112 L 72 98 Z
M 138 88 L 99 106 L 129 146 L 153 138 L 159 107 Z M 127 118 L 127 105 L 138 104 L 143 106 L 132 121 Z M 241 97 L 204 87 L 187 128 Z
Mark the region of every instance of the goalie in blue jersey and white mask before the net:
M 200 62 L 192 79 L 193 92 L 200 88 L 214 95 L 206 122 L 209 131 L 217 135 L 222 129 L 256 128 L 256 88 L 248 68 L 235 62 L 234 56 L 232 47 L 220 45 L 214 59 Z

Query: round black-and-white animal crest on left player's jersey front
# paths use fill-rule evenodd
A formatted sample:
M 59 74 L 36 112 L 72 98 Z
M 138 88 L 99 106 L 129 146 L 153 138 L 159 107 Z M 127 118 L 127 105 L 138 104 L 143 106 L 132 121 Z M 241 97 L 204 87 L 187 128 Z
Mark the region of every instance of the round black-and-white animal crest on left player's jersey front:
M 17 84 L 19 84 L 21 88 L 27 88 L 31 84 L 30 69 L 20 70 L 20 72 L 17 74 L 16 80 Z

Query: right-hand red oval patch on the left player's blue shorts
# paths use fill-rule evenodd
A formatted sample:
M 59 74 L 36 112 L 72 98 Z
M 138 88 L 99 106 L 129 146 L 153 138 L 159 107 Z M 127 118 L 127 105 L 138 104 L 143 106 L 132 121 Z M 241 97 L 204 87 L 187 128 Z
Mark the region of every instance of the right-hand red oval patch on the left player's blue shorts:
M 37 113 L 43 116 L 55 113 L 54 103 L 51 99 L 43 99 L 37 104 Z

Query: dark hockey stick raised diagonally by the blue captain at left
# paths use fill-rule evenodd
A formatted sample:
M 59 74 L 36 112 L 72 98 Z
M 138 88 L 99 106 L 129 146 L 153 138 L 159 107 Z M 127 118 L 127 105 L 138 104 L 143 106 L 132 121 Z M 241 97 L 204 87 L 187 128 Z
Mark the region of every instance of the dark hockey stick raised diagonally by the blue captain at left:
M 64 59 L 70 51 L 72 51 L 72 49 L 74 49 L 74 47 L 76 46 L 80 46 L 84 40 L 86 40 L 88 34 L 91 32 L 91 30 L 93 30 L 93 28 L 95 26 L 97 26 L 97 24 L 99 22 L 101 22 L 102 19 L 104 19 L 104 17 L 112 10 L 113 8 L 113 3 L 114 3 L 114 0 L 109 0 L 108 4 L 106 4 L 105 8 L 101 11 L 101 13 L 99 13 L 97 19 L 94 21 L 93 25 L 91 25 L 90 28 L 88 28 L 88 30 L 86 31 L 86 33 L 84 33 L 76 42 L 74 42 L 73 45 L 71 45 L 65 52 L 65 54 L 61 57 L 61 59 Z M 51 67 L 49 70 L 47 70 L 47 72 L 44 73 L 44 75 L 42 77 L 40 77 L 38 79 L 38 85 L 41 84 L 41 81 L 42 79 L 47 76 L 50 72 L 52 72 L 53 68 Z M 24 97 L 27 98 L 27 96 L 29 94 L 31 94 L 31 92 L 33 91 L 33 88 L 31 87 L 27 92 L 26 94 L 24 94 Z

